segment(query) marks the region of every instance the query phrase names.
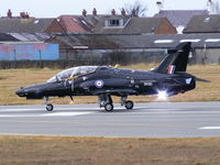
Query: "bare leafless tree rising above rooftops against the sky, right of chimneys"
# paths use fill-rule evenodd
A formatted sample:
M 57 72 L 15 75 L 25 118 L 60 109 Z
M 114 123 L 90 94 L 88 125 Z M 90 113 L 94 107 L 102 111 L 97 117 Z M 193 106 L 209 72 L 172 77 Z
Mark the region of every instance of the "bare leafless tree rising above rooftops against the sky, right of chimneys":
M 133 4 L 125 3 L 124 8 L 127 11 L 127 14 L 131 16 L 145 16 L 146 11 L 147 11 L 146 6 L 142 1 L 139 1 L 139 0 L 136 0 Z

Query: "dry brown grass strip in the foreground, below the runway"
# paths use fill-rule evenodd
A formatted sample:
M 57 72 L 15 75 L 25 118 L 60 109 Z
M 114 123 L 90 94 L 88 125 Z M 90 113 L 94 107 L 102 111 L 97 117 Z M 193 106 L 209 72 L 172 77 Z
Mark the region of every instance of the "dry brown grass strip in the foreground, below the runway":
M 219 165 L 220 138 L 0 136 L 3 165 Z

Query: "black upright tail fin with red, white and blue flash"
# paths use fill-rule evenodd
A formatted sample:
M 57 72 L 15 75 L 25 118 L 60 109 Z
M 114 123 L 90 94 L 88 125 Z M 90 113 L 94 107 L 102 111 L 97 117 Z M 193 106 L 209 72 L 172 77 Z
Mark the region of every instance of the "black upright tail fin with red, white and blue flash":
M 154 72 L 160 74 L 175 74 L 186 72 L 191 43 L 182 43 L 162 61 Z

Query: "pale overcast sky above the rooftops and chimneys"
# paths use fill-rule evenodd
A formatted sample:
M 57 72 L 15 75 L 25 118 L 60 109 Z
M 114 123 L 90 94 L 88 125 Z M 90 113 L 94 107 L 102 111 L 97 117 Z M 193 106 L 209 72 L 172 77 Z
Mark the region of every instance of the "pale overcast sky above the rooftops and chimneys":
M 8 9 L 13 15 L 19 15 L 21 11 L 29 12 L 36 18 L 56 18 L 61 14 L 81 14 L 82 9 L 91 13 L 96 8 L 98 14 L 110 13 L 111 9 L 120 12 L 125 3 L 134 3 L 136 0 L 2 0 L 0 15 L 4 16 Z M 156 11 L 157 0 L 140 0 L 147 7 L 147 15 L 153 15 Z M 164 0 L 164 9 L 186 10 L 206 9 L 208 0 Z M 220 0 L 219 0 L 220 1 Z

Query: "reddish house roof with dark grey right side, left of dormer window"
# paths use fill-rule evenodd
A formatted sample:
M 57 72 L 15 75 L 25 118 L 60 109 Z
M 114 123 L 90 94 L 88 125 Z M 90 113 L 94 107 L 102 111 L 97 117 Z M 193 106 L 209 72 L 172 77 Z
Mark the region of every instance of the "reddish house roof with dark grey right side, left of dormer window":
M 98 16 L 94 15 L 61 15 L 57 19 L 66 33 L 91 32 L 98 22 Z

